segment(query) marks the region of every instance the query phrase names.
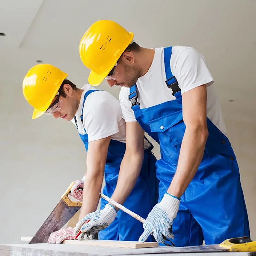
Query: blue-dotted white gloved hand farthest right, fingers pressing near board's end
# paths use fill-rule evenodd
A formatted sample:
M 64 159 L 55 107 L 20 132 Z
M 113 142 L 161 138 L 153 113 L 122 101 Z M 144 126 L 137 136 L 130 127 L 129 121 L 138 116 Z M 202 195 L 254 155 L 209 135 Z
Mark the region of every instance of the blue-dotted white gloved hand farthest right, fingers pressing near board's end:
M 140 236 L 139 242 L 146 241 L 152 232 L 159 243 L 164 243 L 163 235 L 173 239 L 174 235 L 171 232 L 171 228 L 173 220 L 177 216 L 179 205 L 180 198 L 165 193 L 161 202 L 153 207 L 143 223 L 144 232 Z

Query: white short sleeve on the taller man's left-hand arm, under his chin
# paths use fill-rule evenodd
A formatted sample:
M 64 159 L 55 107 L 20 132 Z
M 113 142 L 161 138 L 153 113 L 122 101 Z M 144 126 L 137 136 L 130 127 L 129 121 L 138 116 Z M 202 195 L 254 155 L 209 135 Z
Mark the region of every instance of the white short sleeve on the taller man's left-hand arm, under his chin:
M 122 110 L 122 115 L 125 122 L 137 122 L 134 112 L 131 108 L 131 102 L 128 100 L 130 88 L 122 87 L 119 93 L 119 101 Z

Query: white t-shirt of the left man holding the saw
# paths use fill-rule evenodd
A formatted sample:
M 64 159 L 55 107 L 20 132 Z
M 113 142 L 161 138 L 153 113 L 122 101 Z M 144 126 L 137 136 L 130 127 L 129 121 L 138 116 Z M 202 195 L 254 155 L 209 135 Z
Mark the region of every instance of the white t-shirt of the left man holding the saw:
M 78 132 L 82 135 L 88 134 L 88 141 L 100 140 L 111 136 L 111 139 L 125 143 L 126 124 L 122 118 L 122 111 L 119 101 L 106 91 L 92 92 L 87 96 L 84 103 L 84 95 L 88 90 L 95 90 L 90 84 L 85 84 L 76 112 Z M 81 112 L 83 108 L 83 124 L 81 122 Z M 75 124 L 74 119 L 72 119 Z M 75 124 L 76 125 L 76 124 Z M 149 148 L 150 144 L 145 140 L 144 148 Z

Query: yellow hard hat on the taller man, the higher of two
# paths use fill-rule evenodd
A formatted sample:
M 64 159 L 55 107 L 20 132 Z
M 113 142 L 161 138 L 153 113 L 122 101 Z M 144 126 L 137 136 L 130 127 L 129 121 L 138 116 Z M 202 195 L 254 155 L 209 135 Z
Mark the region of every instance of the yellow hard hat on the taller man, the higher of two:
M 133 33 L 111 20 L 100 20 L 85 32 L 79 44 L 84 66 L 91 69 L 89 84 L 99 85 L 132 42 Z

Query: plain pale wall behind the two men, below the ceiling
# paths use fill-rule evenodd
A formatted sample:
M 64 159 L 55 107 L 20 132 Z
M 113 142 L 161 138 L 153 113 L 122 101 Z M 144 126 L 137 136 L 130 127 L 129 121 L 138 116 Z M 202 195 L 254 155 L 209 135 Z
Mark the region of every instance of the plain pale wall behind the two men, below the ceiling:
M 0 244 L 21 243 L 21 236 L 33 236 L 70 182 L 86 170 L 86 151 L 76 127 L 46 115 L 32 120 L 31 115 L 21 84 L 0 81 Z M 228 116 L 225 120 L 256 239 L 256 124 Z M 159 158 L 156 143 L 154 152 Z

